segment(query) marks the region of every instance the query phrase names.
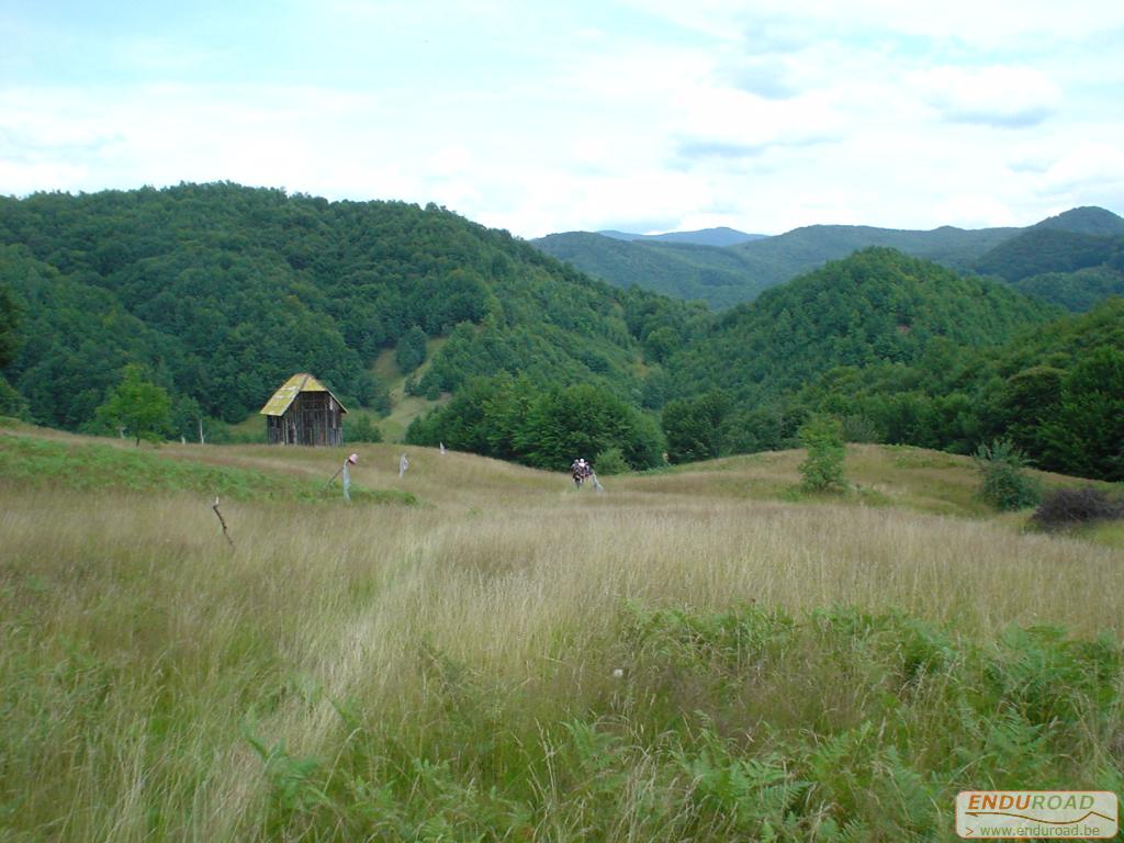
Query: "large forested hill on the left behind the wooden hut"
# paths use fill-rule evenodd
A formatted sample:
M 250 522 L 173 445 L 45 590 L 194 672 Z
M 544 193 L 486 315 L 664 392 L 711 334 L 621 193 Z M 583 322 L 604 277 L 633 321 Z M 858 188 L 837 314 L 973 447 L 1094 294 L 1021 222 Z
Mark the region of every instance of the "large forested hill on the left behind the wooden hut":
M 3 287 L 21 339 L 4 373 L 35 420 L 66 428 L 127 363 L 184 418 L 237 422 L 298 371 L 379 406 L 372 362 L 411 329 L 450 337 L 418 384 L 434 397 L 500 371 L 638 395 L 629 328 L 689 310 L 433 206 L 229 183 L 2 198 Z

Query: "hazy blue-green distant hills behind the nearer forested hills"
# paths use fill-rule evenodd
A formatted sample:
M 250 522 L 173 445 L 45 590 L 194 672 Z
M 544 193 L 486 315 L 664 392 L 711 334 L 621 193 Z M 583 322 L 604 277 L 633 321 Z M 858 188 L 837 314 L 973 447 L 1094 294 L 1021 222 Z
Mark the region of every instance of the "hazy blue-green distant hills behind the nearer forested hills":
M 617 234 L 571 232 L 532 243 L 618 287 L 699 299 L 715 309 L 752 301 L 770 287 L 870 246 L 997 278 L 1070 310 L 1088 309 L 1105 293 L 1124 292 L 1124 219 L 1104 208 L 1073 208 L 1030 228 L 913 232 L 817 225 L 720 248 L 664 239 L 623 242 Z

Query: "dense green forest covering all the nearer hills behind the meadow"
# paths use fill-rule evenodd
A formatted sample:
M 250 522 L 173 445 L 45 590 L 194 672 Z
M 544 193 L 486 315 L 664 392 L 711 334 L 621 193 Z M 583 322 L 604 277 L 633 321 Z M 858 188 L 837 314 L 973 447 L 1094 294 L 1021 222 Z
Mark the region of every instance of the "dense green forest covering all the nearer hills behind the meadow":
M 831 415 L 851 441 L 1008 437 L 1042 468 L 1121 480 L 1113 219 L 1008 236 L 972 259 L 990 279 L 871 247 L 714 315 L 433 206 L 227 183 L 0 199 L 0 414 L 111 433 L 107 407 L 151 386 L 170 407 L 154 436 L 202 420 L 215 439 L 297 371 L 387 410 L 390 354 L 432 401 L 410 442 L 543 468 L 790 447 Z

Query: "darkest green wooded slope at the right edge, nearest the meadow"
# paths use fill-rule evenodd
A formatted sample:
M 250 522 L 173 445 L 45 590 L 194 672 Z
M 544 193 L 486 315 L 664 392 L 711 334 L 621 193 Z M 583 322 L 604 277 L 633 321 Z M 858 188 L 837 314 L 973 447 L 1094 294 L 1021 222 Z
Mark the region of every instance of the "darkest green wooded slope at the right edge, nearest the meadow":
M 861 420 L 880 442 L 971 452 L 1005 437 L 1039 468 L 1124 480 L 1124 299 L 1000 346 L 934 344 L 906 365 L 836 369 L 789 400 Z

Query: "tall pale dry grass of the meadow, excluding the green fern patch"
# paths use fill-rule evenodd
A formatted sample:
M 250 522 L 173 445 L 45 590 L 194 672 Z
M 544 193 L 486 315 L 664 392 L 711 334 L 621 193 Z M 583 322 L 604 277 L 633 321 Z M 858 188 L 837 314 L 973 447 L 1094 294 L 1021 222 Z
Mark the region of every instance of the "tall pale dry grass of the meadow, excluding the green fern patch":
M 369 446 L 361 465 L 393 451 Z M 617 694 L 629 602 L 897 608 L 984 637 L 1048 623 L 1120 637 L 1124 624 L 1124 555 L 1085 542 L 895 508 L 740 500 L 707 495 L 697 477 L 671 491 L 637 478 L 574 493 L 537 472 L 414 453 L 401 484 L 428 506 L 232 502 L 233 550 L 192 497 L 7 488 L 8 839 L 297 839 L 271 817 L 278 782 L 299 769 L 271 785 L 254 746 L 344 763 L 341 724 L 353 720 L 401 742 L 404 758 L 426 755 L 426 735 L 453 716 L 480 717 L 477 733 L 518 720 L 516 734 L 545 729 L 549 746 L 544 724 Z M 288 454 L 224 459 L 260 468 Z M 324 473 L 333 461 L 309 451 L 296 462 Z M 379 466 L 364 482 L 400 482 L 390 459 Z M 497 750 L 491 774 L 517 776 L 514 763 Z M 527 773 L 546 777 L 535 788 L 547 801 L 551 763 Z M 640 760 L 635 787 L 645 774 Z

